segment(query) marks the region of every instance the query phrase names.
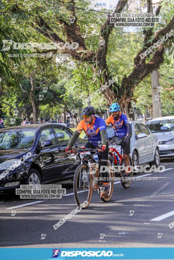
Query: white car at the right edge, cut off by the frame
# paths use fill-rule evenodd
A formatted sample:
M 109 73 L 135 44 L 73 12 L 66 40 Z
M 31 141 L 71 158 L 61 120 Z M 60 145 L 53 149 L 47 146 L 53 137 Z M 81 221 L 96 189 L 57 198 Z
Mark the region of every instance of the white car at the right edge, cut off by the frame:
M 146 126 L 158 137 L 160 157 L 174 157 L 174 116 L 154 118 Z

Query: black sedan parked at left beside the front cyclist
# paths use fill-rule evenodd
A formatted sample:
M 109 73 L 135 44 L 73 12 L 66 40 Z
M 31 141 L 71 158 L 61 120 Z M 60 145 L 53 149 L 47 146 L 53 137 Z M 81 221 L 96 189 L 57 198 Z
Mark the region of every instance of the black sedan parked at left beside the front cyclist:
M 77 154 L 65 149 L 73 131 L 61 124 L 33 124 L 0 129 L 0 191 L 20 184 L 73 179 Z M 74 144 L 80 147 L 84 140 Z

